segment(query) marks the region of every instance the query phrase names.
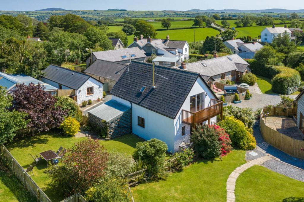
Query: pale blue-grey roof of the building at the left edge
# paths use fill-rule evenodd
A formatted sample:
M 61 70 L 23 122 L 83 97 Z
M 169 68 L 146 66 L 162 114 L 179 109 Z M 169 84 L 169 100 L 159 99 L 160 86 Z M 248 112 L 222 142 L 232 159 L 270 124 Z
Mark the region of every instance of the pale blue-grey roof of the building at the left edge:
M 40 83 L 45 87 L 44 91 L 52 91 L 57 90 L 56 87 L 51 86 L 50 84 L 44 83 L 35 79 L 31 76 L 27 76 L 25 74 L 5 74 L 0 72 L 0 86 L 6 87 L 7 90 L 10 90 L 16 86 L 16 84 L 24 83 L 25 85 L 29 85 L 29 83 L 38 84 Z

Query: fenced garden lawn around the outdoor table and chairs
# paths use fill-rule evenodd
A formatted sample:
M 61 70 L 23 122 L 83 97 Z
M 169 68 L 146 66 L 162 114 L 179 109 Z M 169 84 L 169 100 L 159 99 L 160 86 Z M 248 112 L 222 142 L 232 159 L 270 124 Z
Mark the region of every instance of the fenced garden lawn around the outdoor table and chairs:
M 58 150 L 60 146 L 70 148 L 74 143 L 85 140 L 85 137 L 76 138 L 61 136 L 58 135 L 57 132 L 57 130 L 51 130 L 33 137 L 26 137 L 22 140 L 16 140 L 15 142 L 10 143 L 6 147 L 20 165 L 23 168 L 27 168 L 33 162 L 33 159 L 29 154 L 34 156 L 43 151 Z M 135 136 L 126 135 L 114 140 L 100 140 L 99 142 L 101 145 L 105 146 L 109 152 L 120 152 L 131 155 L 135 144 L 140 141 L 142 140 Z M 52 201 L 62 200 L 62 198 L 58 198 L 52 188 L 49 187 L 48 183 L 50 183 L 51 179 L 48 177 L 47 173 L 45 173 L 46 170 L 46 162 L 44 160 L 40 161 L 33 169 L 33 180 Z

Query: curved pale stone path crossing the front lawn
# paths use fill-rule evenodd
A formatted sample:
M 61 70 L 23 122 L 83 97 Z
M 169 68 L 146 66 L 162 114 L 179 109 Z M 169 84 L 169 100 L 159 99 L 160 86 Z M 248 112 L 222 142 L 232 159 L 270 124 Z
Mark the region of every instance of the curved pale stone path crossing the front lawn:
M 250 168 L 253 165 L 260 165 L 268 160 L 270 160 L 271 157 L 269 156 L 263 156 L 254 160 L 251 160 L 240 167 L 237 167 L 228 177 L 227 183 L 226 183 L 226 190 L 227 190 L 227 202 L 234 202 L 235 201 L 235 183 L 237 181 L 237 178 L 240 176 L 241 173 L 243 173 L 245 170 Z

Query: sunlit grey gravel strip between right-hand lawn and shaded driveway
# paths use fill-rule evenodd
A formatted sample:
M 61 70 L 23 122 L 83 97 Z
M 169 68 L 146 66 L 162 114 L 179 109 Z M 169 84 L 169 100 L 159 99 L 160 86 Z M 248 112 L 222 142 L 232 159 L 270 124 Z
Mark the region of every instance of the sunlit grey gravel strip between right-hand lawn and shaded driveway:
M 287 177 L 304 182 L 304 170 L 295 168 L 281 161 L 271 159 L 263 163 L 262 166 Z

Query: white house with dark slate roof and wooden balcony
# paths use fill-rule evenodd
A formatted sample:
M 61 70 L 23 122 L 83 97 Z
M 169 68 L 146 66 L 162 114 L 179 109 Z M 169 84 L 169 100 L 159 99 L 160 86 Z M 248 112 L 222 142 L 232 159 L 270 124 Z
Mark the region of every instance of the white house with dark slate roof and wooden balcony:
M 189 143 L 195 123 L 216 123 L 223 104 L 199 73 L 153 68 L 138 61 L 127 66 L 110 93 L 112 100 L 131 108 L 134 134 L 145 140 L 162 140 L 170 152 L 178 151 L 182 142 Z M 207 110 L 208 116 L 203 116 Z

